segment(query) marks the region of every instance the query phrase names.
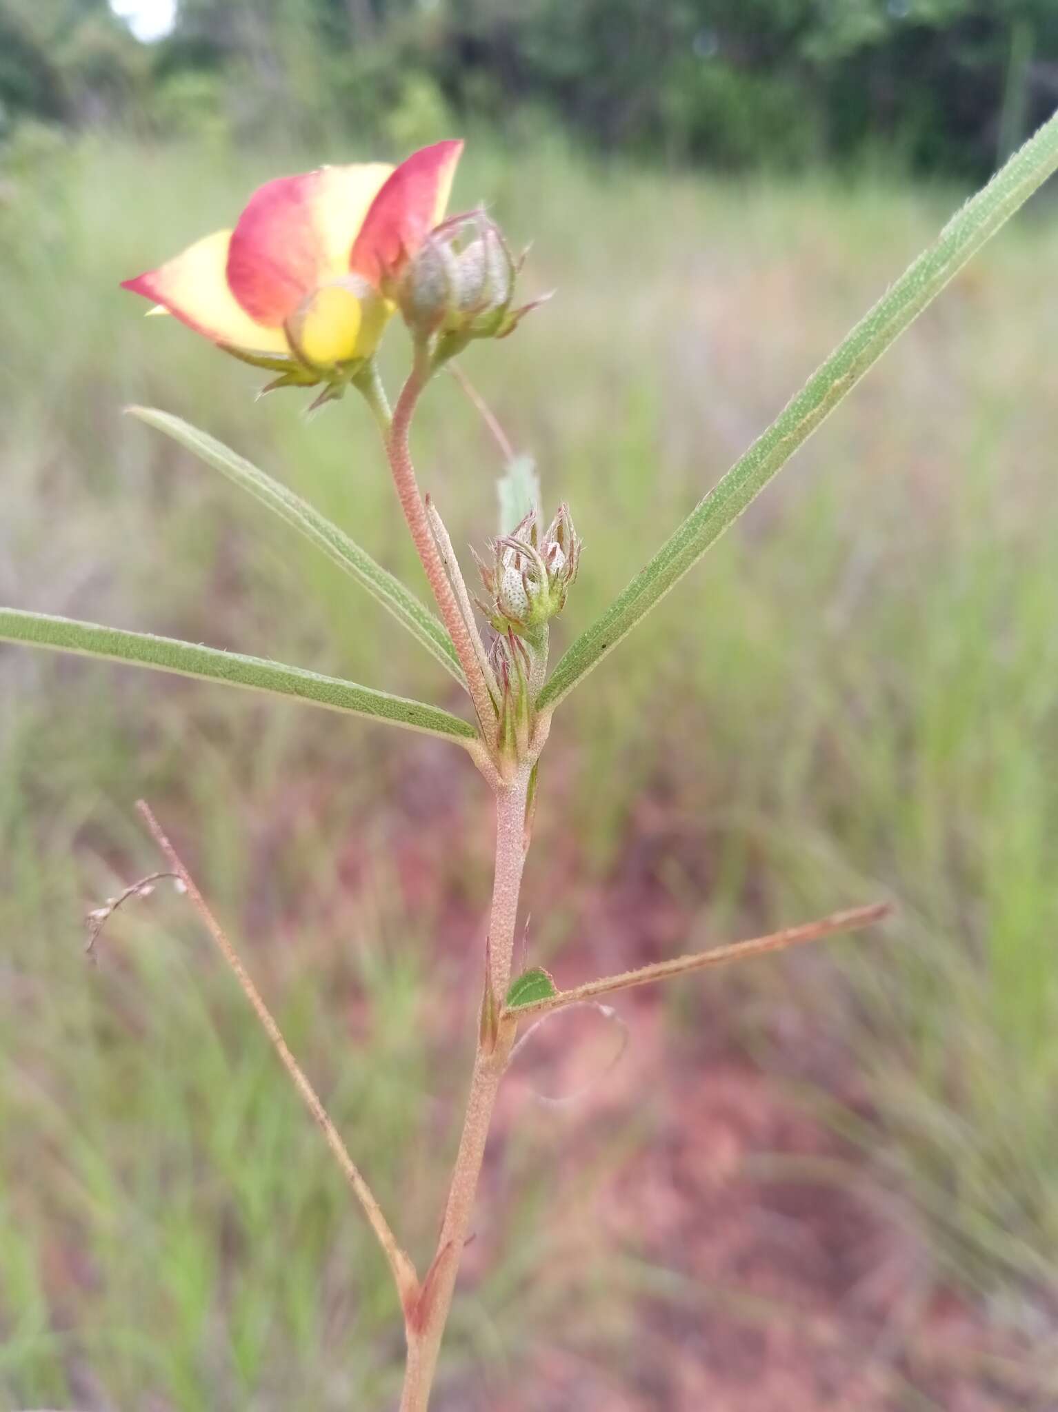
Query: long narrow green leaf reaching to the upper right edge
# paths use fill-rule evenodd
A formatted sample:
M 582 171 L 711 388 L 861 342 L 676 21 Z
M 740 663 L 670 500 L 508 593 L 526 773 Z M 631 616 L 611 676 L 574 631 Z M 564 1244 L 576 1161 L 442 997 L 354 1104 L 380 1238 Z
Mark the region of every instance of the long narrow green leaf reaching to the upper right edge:
M 948 222 L 623 593 L 571 644 L 537 700 L 557 706 L 701 559 L 953 274 L 1058 168 L 1058 114 Z

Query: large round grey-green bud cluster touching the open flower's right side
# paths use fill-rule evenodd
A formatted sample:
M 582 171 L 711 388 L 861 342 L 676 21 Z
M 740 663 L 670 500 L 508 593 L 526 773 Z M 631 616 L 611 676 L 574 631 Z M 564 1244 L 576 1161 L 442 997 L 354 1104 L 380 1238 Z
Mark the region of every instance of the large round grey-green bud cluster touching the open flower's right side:
M 397 302 L 422 337 L 501 339 L 540 304 L 511 309 L 521 270 L 499 226 L 483 210 L 452 216 L 427 237 L 404 271 Z

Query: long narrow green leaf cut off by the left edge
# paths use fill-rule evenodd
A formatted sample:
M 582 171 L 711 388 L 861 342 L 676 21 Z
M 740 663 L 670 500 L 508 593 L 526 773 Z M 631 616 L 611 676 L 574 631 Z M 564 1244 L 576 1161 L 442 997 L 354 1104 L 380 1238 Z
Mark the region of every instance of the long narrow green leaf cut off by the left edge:
M 134 666 L 151 666 L 161 672 L 177 672 L 182 676 L 227 682 L 230 686 L 247 686 L 250 690 L 273 692 L 277 696 L 297 696 L 314 706 L 387 720 L 394 726 L 407 726 L 431 736 L 446 736 L 459 741 L 477 738 L 477 733 L 469 722 L 452 716 L 439 706 L 428 706 L 404 696 L 390 696 L 387 692 L 372 690 L 370 686 L 356 686 L 338 676 L 321 676 L 318 672 L 307 672 L 302 666 L 287 666 L 261 657 L 243 657 L 242 652 L 225 652 L 216 647 L 181 642 L 172 637 L 127 633 L 116 627 L 100 627 L 96 623 L 52 617 L 48 613 L 0 609 L 0 641 L 25 642 L 30 647 L 48 647 L 62 652 L 81 652 L 85 657 L 107 658 L 112 662 L 130 662 Z

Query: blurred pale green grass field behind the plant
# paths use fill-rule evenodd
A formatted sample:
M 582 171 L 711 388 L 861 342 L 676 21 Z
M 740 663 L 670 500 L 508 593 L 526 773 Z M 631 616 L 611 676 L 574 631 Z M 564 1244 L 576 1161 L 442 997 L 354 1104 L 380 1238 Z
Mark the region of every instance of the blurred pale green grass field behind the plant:
M 0 602 L 459 709 L 346 579 L 120 415 L 198 422 L 425 592 L 359 405 L 305 421 L 297 394 L 254 402 L 253 370 L 116 288 L 323 155 L 350 154 L 14 154 Z M 459 182 L 534 241 L 527 292 L 558 291 L 463 366 L 585 537 L 564 641 L 961 199 L 883 178 L 661 178 L 558 144 L 516 160 L 472 144 Z M 668 994 L 674 1053 L 722 1008 L 770 1066 L 775 1017 L 792 1025 L 804 1062 L 774 1084 L 862 1145 L 938 1279 L 1028 1333 L 1058 1298 L 1055 263 L 1037 203 L 561 709 L 525 891 L 531 953 L 559 977 L 614 969 L 585 898 L 633 857 L 685 918 L 681 949 L 894 898 L 884 936 Z M 403 353 L 394 329 L 391 381 Z M 449 380 L 415 441 L 455 544 L 480 546 L 497 455 Z M 141 795 L 404 1240 L 421 1252 L 434 1234 L 489 885 L 472 768 L 309 707 L 3 648 L 0 1406 L 388 1406 L 384 1265 L 185 907 L 162 890 L 114 919 L 97 967 L 81 955 L 81 915 L 157 866 Z M 819 1055 L 857 1075 L 862 1106 L 833 1099 Z M 641 1103 L 599 1165 L 657 1141 Z M 530 1144 L 504 1144 L 452 1388 L 503 1382 L 541 1340 L 627 1333 L 613 1251 L 541 1275 L 548 1179 Z

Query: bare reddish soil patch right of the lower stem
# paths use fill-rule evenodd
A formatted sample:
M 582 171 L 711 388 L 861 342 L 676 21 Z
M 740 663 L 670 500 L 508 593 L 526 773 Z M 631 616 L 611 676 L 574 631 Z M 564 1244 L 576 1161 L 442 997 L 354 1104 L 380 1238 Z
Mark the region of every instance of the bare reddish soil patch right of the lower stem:
M 685 943 L 688 919 L 654 885 L 643 847 L 640 836 L 616 888 L 578 905 L 581 935 L 605 936 L 606 956 L 564 956 L 565 984 Z M 511 1155 L 534 1151 L 549 1196 L 534 1220 L 554 1244 L 542 1234 L 524 1313 L 517 1299 L 497 1312 L 524 1320 L 528 1365 L 496 1387 L 449 1384 L 438 1412 L 1058 1412 L 1054 1348 L 992 1327 L 939 1288 L 910 1210 L 780 1077 L 822 1079 L 869 1118 L 848 1058 L 812 1052 L 778 1019 L 777 1076 L 706 1005 L 699 995 L 695 1022 L 677 1027 L 658 990 L 623 997 L 629 1039 L 609 1070 L 619 1031 L 592 1015 L 551 1022 L 518 1059 L 462 1288 L 472 1298 L 501 1258 L 518 1219 Z M 576 1101 L 541 1104 L 592 1073 Z M 551 1248 L 561 1254 L 544 1275 Z M 622 1298 L 586 1293 L 593 1271 Z M 583 1317 L 575 1302 L 541 1312 L 547 1282 L 579 1289 Z M 598 1327 L 607 1303 L 630 1317 Z

